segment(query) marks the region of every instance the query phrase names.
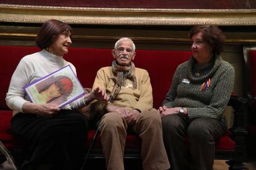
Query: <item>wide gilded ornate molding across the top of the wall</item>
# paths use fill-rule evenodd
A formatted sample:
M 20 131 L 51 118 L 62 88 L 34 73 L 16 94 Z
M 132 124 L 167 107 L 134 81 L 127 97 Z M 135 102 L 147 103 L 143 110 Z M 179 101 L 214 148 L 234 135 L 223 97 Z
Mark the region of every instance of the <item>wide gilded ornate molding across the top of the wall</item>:
M 43 23 L 55 18 L 95 25 L 256 25 L 256 9 L 126 9 L 0 4 L 0 22 Z

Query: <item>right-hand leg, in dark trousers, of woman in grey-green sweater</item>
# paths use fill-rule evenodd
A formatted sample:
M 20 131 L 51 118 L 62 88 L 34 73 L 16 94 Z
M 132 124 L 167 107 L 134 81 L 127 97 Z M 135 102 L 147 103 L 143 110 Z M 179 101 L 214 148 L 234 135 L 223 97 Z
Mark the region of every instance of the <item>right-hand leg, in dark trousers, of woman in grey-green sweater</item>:
M 197 169 L 213 169 L 215 140 L 224 135 L 226 128 L 224 123 L 211 118 L 198 118 L 189 124 L 189 150 Z

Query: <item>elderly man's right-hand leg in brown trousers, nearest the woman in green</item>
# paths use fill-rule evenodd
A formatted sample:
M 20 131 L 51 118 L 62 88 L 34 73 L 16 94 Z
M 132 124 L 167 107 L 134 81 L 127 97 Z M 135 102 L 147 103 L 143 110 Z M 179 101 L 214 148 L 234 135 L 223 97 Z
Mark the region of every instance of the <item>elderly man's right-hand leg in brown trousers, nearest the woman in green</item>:
M 134 129 L 142 139 L 143 169 L 169 169 L 170 164 L 163 144 L 163 131 L 158 111 L 152 108 L 140 113 Z

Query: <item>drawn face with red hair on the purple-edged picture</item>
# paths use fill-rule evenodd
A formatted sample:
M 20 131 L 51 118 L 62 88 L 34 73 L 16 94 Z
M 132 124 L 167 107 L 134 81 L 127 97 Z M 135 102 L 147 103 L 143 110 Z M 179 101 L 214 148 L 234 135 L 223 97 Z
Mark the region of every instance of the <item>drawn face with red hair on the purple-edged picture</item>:
M 69 78 L 57 79 L 56 82 L 48 86 L 47 89 L 40 92 L 41 99 L 45 100 L 45 103 L 51 103 L 53 100 L 58 99 L 62 95 L 66 97 L 72 92 L 73 83 Z

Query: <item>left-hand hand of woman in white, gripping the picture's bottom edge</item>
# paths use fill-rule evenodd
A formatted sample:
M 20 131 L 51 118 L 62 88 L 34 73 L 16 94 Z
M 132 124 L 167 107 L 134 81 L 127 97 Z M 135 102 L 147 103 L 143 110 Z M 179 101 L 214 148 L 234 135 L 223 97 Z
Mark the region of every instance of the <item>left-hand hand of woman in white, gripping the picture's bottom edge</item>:
M 58 105 L 53 105 L 50 103 L 46 104 L 36 104 L 25 102 L 22 106 L 22 111 L 24 113 L 33 113 L 41 117 L 51 117 L 54 113 L 58 113 L 60 110 Z

